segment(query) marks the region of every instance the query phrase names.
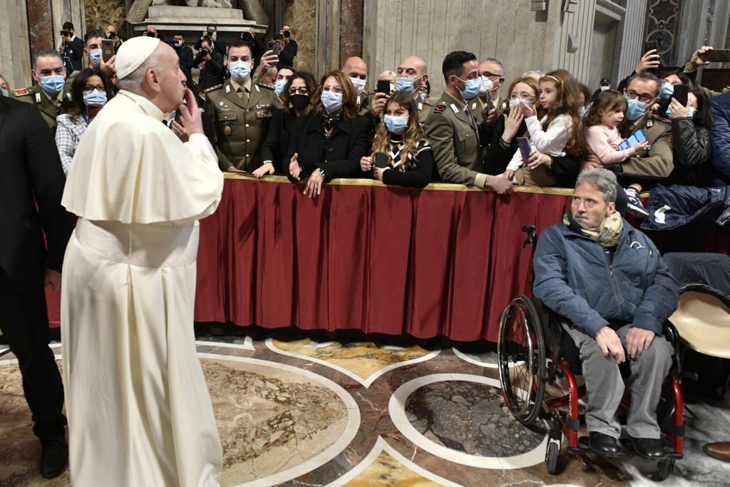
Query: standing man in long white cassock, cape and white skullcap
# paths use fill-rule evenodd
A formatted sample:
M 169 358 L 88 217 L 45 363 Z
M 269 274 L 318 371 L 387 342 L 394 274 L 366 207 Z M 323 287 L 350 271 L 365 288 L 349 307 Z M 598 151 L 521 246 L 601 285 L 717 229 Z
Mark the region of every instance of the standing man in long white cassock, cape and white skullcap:
M 172 47 L 125 42 L 120 92 L 81 139 L 61 331 L 77 486 L 218 486 L 222 452 L 193 335 L 200 218 L 223 175 Z M 187 105 L 181 102 L 185 99 Z M 161 120 L 180 107 L 181 142 Z

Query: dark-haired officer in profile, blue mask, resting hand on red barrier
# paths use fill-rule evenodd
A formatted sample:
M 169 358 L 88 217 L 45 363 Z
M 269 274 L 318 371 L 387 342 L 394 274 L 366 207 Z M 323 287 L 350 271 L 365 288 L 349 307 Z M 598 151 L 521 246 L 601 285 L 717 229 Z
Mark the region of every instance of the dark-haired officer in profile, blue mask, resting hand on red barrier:
M 442 180 L 450 183 L 491 188 L 497 193 L 513 193 L 512 182 L 484 172 L 483 147 L 479 124 L 467 100 L 479 94 L 481 80 L 477 58 L 472 53 L 455 51 L 446 55 L 442 65 L 446 88 L 426 120 L 426 138 Z

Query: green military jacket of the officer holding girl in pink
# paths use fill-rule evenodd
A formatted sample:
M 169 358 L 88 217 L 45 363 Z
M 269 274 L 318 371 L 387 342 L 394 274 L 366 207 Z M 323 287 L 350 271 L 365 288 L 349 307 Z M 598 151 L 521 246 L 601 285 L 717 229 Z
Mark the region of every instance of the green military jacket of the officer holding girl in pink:
M 639 179 L 664 179 L 674 169 L 672 156 L 672 126 L 660 120 L 656 115 L 646 113 L 633 123 L 621 128 L 621 136 L 629 137 L 632 132 L 642 129 L 650 150 L 642 150 L 621 163 L 624 176 Z

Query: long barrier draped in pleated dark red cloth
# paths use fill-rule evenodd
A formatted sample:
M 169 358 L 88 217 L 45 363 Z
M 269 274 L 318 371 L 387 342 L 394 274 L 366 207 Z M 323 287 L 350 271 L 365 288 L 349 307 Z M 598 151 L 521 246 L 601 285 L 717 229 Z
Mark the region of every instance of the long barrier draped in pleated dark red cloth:
M 505 304 L 529 287 L 522 226 L 560 221 L 571 193 L 370 180 L 338 180 L 316 199 L 302 190 L 226 176 L 201 221 L 196 321 L 496 341 Z M 701 247 L 728 253 L 730 234 L 713 230 Z

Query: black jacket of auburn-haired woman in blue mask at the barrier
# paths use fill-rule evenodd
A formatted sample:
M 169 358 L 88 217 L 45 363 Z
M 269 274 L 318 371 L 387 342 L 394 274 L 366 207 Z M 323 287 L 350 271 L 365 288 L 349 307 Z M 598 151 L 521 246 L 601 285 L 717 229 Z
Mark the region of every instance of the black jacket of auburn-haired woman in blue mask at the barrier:
M 296 119 L 285 161 L 294 153 L 307 177 L 315 169 L 323 169 L 330 179 L 336 177 L 369 177 L 360 169 L 360 159 L 370 153 L 370 120 L 357 115 L 352 120 L 339 120 L 328 140 L 324 138 L 322 118 L 318 114 Z M 288 168 L 287 168 L 288 173 Z

